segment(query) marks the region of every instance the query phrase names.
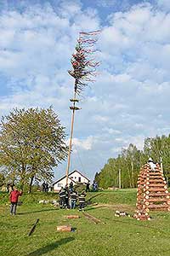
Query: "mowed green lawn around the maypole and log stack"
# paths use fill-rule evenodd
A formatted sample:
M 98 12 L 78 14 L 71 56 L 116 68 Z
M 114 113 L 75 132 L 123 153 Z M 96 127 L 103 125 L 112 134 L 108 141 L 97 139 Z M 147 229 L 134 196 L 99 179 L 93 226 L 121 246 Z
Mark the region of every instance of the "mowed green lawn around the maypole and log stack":
M 54 199 L 55 195 L 46 195 L 48 199 L 50 196 Z M 88 200 L 98 205 L 88 206 L 86 212 L 99 218 L 102 222 L 99 224 L 94 224 L 77 210 L 61 210 L 50 204 L 38 204 L 38 198 L 42 197 L 41 193 L 33 197 L 24 195 L 23 205 L 18 207 L 16 216 L 9 215 L 6 199 L 0 197 L 1 256 L 170 255 L 169 212 L 151 212 L 150 221 L 114 216 L 115 210 L 133 214 L 135 189 L 89 193 Z M 78 214 L 81 218 L 65 218 L 71 214 Z M 37 228 L 28 236 L 37 218 L 40 219 Z M 57 231 L 57 225 L 62 224 L 71 224 L 75 231 Z

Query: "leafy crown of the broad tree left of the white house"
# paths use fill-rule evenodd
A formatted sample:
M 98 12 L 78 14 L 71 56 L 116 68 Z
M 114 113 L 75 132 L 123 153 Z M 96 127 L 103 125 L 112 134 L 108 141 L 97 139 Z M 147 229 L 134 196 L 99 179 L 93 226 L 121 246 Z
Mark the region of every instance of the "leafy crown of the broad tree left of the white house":
M 14 109 L 1 121 L 0 166 L 21 186 L 54 176 L 53 167 L 65 160 L 65 128 L 52 108 Z

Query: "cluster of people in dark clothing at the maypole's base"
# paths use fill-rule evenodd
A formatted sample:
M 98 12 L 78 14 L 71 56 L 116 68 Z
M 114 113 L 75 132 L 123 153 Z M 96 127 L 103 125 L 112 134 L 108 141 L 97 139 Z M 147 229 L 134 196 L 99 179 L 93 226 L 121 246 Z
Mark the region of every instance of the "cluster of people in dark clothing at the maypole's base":
M 77 193 L 76 189 L 73 188 L 73 184 L 70 186 L 61 187 L 59 190 L 59 206 L 61 209 L 75 209 L 78 202 L 79 211 L 84 211 L 86 193 L 82 191 Z

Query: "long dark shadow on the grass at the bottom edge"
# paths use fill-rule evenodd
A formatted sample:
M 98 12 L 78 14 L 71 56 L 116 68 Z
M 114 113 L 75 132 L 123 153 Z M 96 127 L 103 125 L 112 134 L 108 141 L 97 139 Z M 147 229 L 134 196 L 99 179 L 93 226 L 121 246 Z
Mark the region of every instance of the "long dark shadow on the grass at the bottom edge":
M 36 251 L 27 254 L 27 256 L 40 256 L 42 254 L 48 253 L 48 252 L 56 249 L 57 247 L 62 246 L 63 244 L 65 244 L 69 241 L 73 241 L 73 240 L 75 240 L 75 238 L 71 237 L 71 236 L 62 238 L 59 241 L 54 241 L 45 247 L 41 247 L 41 248 L 37 249 Z

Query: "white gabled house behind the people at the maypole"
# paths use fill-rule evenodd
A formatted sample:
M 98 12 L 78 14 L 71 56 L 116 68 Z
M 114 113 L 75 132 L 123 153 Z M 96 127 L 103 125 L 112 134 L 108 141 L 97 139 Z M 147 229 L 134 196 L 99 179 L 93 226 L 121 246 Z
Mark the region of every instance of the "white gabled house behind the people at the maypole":
M 78 172 L 77 170 L 69 173 L 68 175 L 68 185 L 70 183 L 73 183 L 73 185 L 77 183 L 88 183 L 90 180 L 88 177 L 85 177 L 81 172 Z M 53 183 L 54 192 L 59 192 L 61 187 L 65 187 L 66 185 L 66 176 L 59 178 L 56 182 Z

